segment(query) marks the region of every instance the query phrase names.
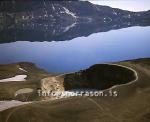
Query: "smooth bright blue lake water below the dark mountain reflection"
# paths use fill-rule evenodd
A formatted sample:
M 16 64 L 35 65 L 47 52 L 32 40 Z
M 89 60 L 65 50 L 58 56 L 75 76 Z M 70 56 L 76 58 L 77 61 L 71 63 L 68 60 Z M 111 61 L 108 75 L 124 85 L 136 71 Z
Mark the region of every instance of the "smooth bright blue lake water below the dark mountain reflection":
M 8 35 L 9 36 L 9 35 Z M 32 62 L 52 73 L 150 57 L 150 27 L 129 27 L 66 41 L 0 44 L 0 64 Z

